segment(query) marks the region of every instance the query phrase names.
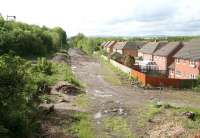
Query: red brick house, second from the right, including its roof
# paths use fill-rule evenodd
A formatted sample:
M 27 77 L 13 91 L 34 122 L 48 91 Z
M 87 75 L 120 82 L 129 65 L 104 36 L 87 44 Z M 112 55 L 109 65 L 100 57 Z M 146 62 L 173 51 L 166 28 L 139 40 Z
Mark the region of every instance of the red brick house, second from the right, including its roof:
M 157 64 L 158 70 L 168 71 L 168 67 L 174 62 L 174 55 L 182 48 L 180 42 L 170 42 L 163 45 L 154 52 L 153 61 Z

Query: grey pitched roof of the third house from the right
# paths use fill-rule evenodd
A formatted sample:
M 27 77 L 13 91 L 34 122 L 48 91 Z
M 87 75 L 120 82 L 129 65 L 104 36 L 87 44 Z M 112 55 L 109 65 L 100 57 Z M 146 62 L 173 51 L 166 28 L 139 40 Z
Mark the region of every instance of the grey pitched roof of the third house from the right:
M 153 54 L 158 48 L 161 48 L 161 46 L 165 45 L 167 42 L 149 42 L 145 44 L 139 52 L 145 53 L 145 54 Z

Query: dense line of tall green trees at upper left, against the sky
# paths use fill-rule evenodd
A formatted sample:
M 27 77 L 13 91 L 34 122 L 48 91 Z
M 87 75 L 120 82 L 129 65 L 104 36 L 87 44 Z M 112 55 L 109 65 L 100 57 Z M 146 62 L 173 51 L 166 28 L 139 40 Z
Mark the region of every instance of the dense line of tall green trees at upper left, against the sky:
M 67 47 L 67 35 L 60 27 L 50 29 L 0 17 L 0 54 L 45 56 L 61 47 Z

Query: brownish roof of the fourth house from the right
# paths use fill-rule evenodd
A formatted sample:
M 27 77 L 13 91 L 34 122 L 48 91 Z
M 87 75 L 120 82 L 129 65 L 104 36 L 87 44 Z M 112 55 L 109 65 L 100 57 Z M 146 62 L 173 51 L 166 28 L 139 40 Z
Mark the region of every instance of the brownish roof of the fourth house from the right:
M 139 50 L 144 44 L 145 42 L 143 41 L 127 42 L 123 48 L 128 50 Z

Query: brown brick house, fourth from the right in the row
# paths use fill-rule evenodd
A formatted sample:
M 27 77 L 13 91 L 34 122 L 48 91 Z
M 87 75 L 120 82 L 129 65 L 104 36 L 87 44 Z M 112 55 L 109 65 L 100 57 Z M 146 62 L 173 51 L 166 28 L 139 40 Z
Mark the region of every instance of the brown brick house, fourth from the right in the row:
M 141 49 L 144 44 L 145 42 L 142 42 L 142 41 L 127 42 L 125 46 L 123 47 L 123 54 L 137 57 L 138 50 Z

